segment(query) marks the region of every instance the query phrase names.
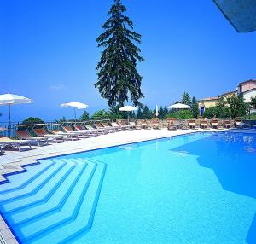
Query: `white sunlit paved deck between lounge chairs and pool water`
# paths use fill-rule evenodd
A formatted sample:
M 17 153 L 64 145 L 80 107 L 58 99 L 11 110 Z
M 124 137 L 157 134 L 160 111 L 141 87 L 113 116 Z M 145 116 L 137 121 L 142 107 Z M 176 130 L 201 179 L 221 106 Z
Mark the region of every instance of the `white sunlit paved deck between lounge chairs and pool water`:
M 206 132 L 206 131 L 228 131 L 228 130 L 176 130 L 168 131 L 167 129 L 161 130 L 129 130 L 109 133 L 98 137 L 90 137 L 79 139 L 78 141 L 68 141 L 55 143 L 51 142 L 49 145 L 43 147 L 32 146 L 32 150 L 26 151 L 6 151 L 5 154 L 0 156 L 0 182 L 5 180 L 3 176 L 6 173 L 15 171 L 22 171 L 22 165 L 36 163 L 38 159 L 58 156 L 61 154 L 72 154 L 83 151 L 88 151 L 97 148 L 108 148 L 118 146 L 121 144 L 131 142 L 142 142 L 162 137 L 174 137 L 193 132 Z M 256 133 L 256 130 L 232 130 L 234 132 Z M 26 148 L 26 147 L 23 147 Z M 0 244 L 13 244 L 18 243 L 15 236 L 10 231 L 3 218 L 0 216 Z

